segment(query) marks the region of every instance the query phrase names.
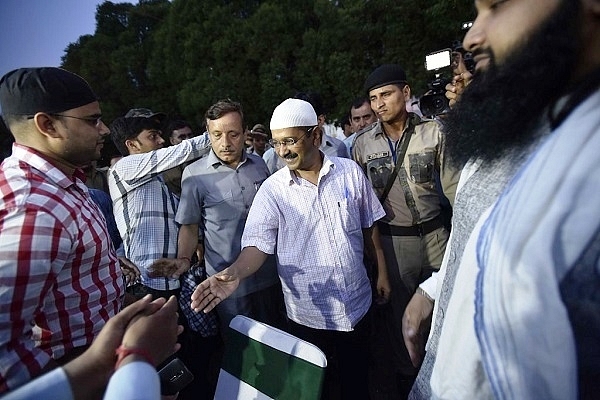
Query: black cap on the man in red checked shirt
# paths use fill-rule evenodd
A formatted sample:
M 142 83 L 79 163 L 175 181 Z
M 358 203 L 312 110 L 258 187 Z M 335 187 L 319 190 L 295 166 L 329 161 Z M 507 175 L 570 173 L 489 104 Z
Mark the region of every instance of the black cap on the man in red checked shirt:
M 56 114 L 97 100 L 82 77 L 62 68 L 19 68 L 0 78 L 0 107 L 6 115 Z

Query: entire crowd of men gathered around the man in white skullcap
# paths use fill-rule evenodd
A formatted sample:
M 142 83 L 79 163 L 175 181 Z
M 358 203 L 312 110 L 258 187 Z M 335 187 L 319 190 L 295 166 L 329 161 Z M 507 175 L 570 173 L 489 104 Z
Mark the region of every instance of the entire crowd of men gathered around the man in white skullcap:
M 243 314 L 323 350 L 323 399 L 597 398 L 600 5 L 543 3 L 475 1 L 444 115 L 375 68 L 344 141 L 311 92 L 107 126 L 74 73 L 4 75 L 0 394 L 158 399 L 179 358 L 162 397 L 212 399 Z

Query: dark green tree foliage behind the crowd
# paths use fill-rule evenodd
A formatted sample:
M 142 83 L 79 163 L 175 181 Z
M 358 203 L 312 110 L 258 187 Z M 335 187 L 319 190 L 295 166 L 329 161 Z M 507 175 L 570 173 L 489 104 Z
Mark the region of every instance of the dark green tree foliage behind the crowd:
M 62 66 L 88 80 L 107 121 L 148 107 L 198 126 L 232 98 L 248 126 L 266 124 L 297 91 L 320 93 L 334 120 L 383 63 L 402 65 L 422 94 L 425 54 L 462 39 L 472 17 L 472 0 L 105 1 Z

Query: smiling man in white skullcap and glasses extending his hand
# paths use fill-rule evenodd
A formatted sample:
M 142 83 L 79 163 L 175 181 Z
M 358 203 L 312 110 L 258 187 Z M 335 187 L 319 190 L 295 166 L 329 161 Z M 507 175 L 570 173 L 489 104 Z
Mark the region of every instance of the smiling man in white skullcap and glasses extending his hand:
M 286 166 L 258 190 L 240 256 L 196 288 L 192 307 L 212 310 L 277 250 L 290 333 L 317 345 L 329 361 L 324 398 L 334 395 L 331 377 L 337 375 L 341 398 L 368 399 L 367 312 L 373 296 L 363 250 L 376 259 L 377 294 L 387 298 L 374 225 L 385 213 L 356 163 L 319 150 L 322 131 L 310 103 L 285 100 L 273 111 L 270 127 L 271 145 Z

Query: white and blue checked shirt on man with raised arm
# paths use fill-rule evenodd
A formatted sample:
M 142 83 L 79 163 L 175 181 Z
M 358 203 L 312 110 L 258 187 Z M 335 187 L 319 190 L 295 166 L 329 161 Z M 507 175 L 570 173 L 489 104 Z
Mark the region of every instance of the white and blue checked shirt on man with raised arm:
M 208 153 L 208 134 L 176 146 L 123 157 L 108 171 L 113 212 L 125 256 L 142 275 L 142 284 L 156 290 L 179 288 L 178 279 L 150 278 L 147 268 L 159 258 L 177 257 L 177 199 L 162 172 Z

